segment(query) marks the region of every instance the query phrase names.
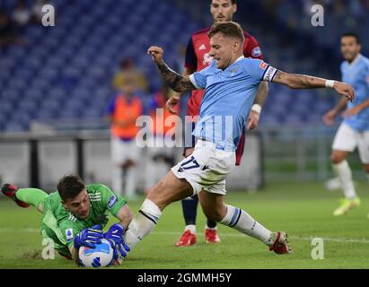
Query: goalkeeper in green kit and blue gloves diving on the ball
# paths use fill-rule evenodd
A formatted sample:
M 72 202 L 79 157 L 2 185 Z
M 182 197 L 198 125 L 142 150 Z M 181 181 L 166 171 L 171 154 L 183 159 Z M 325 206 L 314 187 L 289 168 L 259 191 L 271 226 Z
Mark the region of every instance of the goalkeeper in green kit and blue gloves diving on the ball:
M 74 259 L 79 265 L 78 249 L 94 248 L 105 238 L 114 250 L 114 259 L 126 257 L 129 248 L 123 233 L 132 220 L 127 201 L 101 184 L 84 185 L 83 179 L 71 174 L 57 183 L 57 192 L 46 194 L 37 188 L 19 188 L 4 184 L 1 191 L 21 207 L 35 206 L 42 213 L 41 234 L 52 239 L 58 253 Z M 109 213 L 119 219 L 110 230 L 102 233 L 109 221 Z

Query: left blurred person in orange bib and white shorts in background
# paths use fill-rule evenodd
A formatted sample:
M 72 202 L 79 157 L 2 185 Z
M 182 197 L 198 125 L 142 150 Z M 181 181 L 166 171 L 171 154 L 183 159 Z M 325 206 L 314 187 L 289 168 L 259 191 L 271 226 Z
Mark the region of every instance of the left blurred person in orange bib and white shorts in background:
M 136 198 L 136 169 L 139 149 L 136 145 L 136 118 L 143 114 L 142 100 L 135 95 L 135 78 L 121 81 L 120 93 L 112 99 L 106 111 L 111 128 L 111 187 L 128 200 Z M 124 180 L 123 180 L 124 178 Z M 124 184 L 123 184 L 124 182 Z

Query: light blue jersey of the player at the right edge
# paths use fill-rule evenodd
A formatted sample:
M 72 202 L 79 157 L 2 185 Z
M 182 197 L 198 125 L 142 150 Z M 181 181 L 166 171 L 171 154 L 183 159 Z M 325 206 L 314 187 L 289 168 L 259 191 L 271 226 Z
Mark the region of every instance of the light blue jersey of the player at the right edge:
M 354 87 L 355 100 L 348 102 L 347 109 L 351 109 L 365 100 L 369 100 L 369 59 L 359 54 L 348 64 L 341 64 L 342 81 Z M 353 117 L 347 117 L 345 123 L 358 131 L 369 130 L 369 109 L 363 109 Z

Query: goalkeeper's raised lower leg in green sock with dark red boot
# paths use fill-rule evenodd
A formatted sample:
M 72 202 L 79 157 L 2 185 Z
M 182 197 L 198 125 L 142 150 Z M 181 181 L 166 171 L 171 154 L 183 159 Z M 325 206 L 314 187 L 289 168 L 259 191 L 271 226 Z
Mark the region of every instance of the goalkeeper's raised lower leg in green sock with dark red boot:
M 4 184 L 1 191 L 5 196 L 9 196 L 21 207 L 35 206 L 42 213 L 42 201 L 48 194 L 38 188 L 18 188 L 11 184 Z

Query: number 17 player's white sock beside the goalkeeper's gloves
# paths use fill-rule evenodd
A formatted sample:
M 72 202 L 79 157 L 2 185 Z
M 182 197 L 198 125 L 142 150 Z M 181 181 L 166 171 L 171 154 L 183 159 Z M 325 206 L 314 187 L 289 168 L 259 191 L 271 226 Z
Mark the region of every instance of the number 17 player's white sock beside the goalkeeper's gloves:
M 154 230 L 161 215 L 162 212 L 159 207 L 146 198 L 141 205 L 139 213 L 128 225 L 125 233 L 125 242 L 127 246 L 131 249 L 134 248 L 141 239 Z

